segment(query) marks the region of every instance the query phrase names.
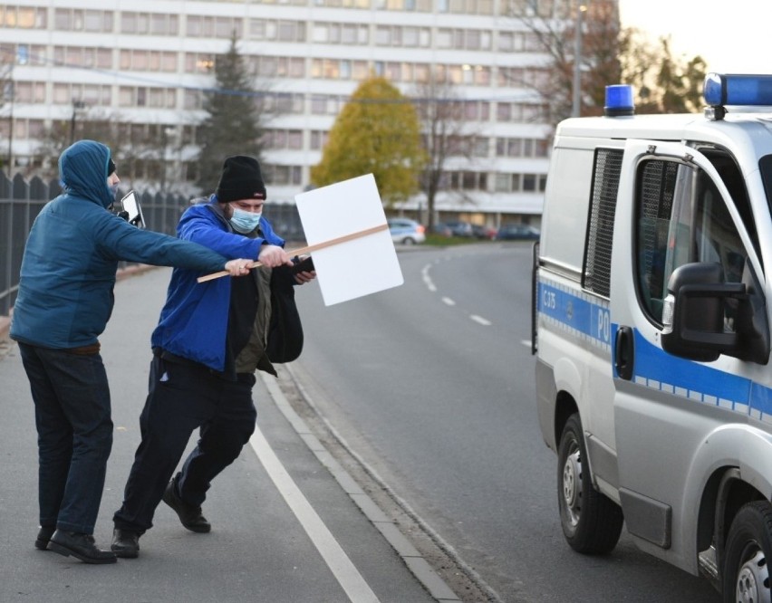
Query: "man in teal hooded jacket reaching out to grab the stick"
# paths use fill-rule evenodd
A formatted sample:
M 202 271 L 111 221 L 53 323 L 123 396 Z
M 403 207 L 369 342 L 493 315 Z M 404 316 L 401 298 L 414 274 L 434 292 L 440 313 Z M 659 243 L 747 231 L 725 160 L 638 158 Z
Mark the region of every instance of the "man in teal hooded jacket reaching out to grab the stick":
M 22 260 L 11 337 L 30 381 L 38 433 L 40 529 L 34 545 L 113 563 L 93 528 L 112 446 L 110 388 L 99 336 L 119 261 L 248 273 L 248 259 L 140 230 L 109 207 L 120 179 L 110 149 L 81 140 L 59 158 L 63 194 L 35 218 Z M 204 287 L 206 288 L 206 287 Z

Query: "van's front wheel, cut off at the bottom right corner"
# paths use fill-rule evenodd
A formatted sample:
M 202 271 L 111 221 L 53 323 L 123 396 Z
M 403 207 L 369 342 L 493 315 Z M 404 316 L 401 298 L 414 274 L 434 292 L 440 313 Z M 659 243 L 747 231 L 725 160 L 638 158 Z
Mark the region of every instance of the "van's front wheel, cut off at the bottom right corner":
M 744 505 L 732 521 L 724 551 L 724 601 L 769 603 L 772 504 L 754 501 Z

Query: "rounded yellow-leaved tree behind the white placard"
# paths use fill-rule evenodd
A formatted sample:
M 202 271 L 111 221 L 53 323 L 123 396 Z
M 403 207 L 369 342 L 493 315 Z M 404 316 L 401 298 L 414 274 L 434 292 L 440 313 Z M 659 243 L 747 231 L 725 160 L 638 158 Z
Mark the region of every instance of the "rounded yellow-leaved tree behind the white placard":
M 391 204 L 418 192 L 425 161 L 415 108 L 385 78 L 372 77 L 335 120 L 311 180 L 323 187 L 372 173 L 381 199 Z

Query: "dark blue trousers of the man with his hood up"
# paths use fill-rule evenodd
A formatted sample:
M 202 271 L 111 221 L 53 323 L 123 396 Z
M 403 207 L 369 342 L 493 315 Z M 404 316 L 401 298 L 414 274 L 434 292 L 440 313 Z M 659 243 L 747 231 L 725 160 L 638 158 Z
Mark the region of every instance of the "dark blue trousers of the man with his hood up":
M 21 342 L 19 351 L 34 400 L 40 524 L 92 534 L 112 448 L 101 356 Z

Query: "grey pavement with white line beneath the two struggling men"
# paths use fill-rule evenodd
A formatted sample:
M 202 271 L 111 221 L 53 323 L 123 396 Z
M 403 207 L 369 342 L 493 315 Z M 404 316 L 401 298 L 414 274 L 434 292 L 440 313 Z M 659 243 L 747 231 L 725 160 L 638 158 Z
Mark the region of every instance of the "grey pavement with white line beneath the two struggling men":
M 150 332 L 169 273 L 155 269 L 121 280 L 111 322 L 101 338 L 115 424 L 94 534 L 102 548 L 110 545 L 112 513 L 121 505 L 140 442 Z M 4 347 L 0 601 L 459 600 L 326 454 L 273 378 L 257 381 L 258 430 L 252 445 L 217 477 L 204 504 L 211 533 L 185 530 L 161 503 L 154 527 L 140 539 L 137 560 L 92 566 L 35 550 L 34 405 L 18 349 L 7 342 Z

